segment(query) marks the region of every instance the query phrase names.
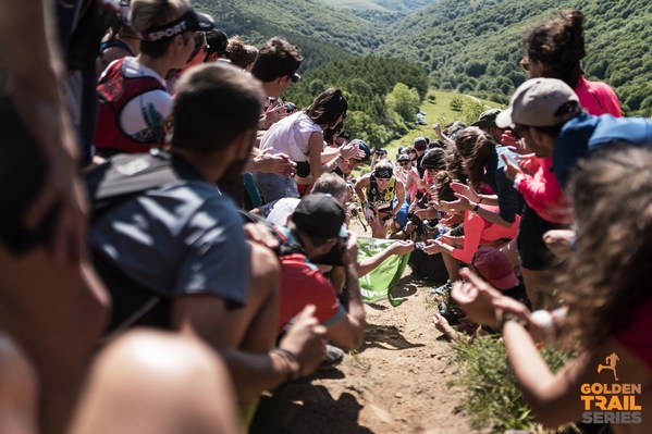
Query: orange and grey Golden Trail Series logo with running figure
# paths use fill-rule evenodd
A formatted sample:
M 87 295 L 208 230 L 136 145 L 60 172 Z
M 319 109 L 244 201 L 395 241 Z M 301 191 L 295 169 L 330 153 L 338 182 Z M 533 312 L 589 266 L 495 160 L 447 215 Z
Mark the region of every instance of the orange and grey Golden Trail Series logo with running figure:
M 612 371 L 614 382 L 618 380 L 618 355 L 612 352 L 598 364 L 598 373 Z M 580 399 L 585 404 L 583 423 L 641 423 L 641 406 L 636 404 L 641 395 L 641 385 L 635 383 L 585 383 L 580 386 Z

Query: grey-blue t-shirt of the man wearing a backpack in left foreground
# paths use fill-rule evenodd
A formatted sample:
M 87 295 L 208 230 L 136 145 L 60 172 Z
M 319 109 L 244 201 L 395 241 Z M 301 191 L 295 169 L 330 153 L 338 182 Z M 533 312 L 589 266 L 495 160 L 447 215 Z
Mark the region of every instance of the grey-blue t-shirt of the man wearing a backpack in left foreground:
M 244 305 L 250 248 L 231 199 L 185 181 L 116 206 L 93 226 L 94 248 L 167 297 L 211 294 Z

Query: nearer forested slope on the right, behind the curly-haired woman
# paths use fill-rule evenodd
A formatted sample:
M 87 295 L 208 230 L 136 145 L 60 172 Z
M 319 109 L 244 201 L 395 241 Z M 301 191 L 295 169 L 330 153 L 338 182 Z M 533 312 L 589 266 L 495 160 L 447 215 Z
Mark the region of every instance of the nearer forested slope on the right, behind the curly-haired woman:
M 442 0 L 391 26 L 382 52 L 423 64 L 435 88 L 504 102 L 525 79 L 524 32 L 571 7 L 587 15 L 588 76 L 610 83 L 628 114 L 652 115 L 649 0 Z

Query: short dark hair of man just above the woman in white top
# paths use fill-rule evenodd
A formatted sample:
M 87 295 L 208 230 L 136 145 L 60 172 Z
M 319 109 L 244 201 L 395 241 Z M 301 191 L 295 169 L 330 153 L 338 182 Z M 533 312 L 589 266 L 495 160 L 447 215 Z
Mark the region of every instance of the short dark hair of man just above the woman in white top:
M 261 82 L 273 82 L 276 78 L 291 76 L 304 60 L 298 47 L 285 39 L 269 39 L 258 50 L 258 57 L 251 67 L 251 75 Z

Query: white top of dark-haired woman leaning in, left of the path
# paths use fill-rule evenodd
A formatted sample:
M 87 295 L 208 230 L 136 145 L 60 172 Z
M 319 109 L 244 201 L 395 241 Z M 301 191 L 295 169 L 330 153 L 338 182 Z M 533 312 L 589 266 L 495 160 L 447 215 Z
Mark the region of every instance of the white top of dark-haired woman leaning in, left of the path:
M 308 161 L 308 139 L 321 132 L 321 126 L 299 111 L 273 124 L 262 136 L 260 149 L 286 153 L 293 161 Z

